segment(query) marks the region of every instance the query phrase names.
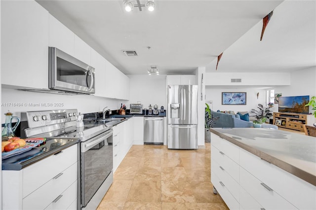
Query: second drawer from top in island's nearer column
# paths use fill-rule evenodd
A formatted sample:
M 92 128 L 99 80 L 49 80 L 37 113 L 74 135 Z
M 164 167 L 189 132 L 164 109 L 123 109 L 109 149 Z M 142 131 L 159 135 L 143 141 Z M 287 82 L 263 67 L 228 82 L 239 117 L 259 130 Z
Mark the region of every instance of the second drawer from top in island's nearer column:
M 269 185 L 240 168 L 240 185 L 258 201 L 264 209 L 296 210 L 292 204 L 278 195 Z M 265 187 L 266 186 L 266 187 Z

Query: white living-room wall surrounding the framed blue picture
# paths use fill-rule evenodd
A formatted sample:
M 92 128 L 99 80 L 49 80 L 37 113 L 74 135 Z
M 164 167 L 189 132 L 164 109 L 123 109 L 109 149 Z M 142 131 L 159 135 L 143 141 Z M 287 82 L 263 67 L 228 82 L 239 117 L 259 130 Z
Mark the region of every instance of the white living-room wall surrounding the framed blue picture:
M 210 108 L 214 111 L 248 111 L 252 108 L 257 109 L 258 104 L 265 105 L 266 91 L 264 89 L 256 89 L 251 87 L 238 88 L 238 89 L 223 89 L 215 88 L 212 86 L 206 86 L 206 100 L 205 103 L 210 105 Z M 246 92 L 246 105 L 222 105 L 222 92 Z M 257 99 L 257 93 L 259 97 Z M 212 103 L 210 103 L 212 102 Z

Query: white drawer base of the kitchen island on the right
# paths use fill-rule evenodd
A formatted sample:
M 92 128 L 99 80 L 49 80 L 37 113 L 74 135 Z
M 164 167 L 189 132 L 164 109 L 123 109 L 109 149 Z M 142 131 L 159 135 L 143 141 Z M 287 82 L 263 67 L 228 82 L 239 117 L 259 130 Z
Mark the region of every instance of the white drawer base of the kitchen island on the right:
M 230 209 L 316 209 L 316 186 L 213 133 L 211 139 L 211 182 Z

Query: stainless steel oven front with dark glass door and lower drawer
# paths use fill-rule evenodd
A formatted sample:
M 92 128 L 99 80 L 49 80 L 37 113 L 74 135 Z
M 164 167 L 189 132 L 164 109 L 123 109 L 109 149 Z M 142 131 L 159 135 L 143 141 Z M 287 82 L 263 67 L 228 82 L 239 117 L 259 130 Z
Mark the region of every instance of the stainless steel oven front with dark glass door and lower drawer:
M 96 209 L 113 182 L 113 129 L 81 142 L 81 205 Z

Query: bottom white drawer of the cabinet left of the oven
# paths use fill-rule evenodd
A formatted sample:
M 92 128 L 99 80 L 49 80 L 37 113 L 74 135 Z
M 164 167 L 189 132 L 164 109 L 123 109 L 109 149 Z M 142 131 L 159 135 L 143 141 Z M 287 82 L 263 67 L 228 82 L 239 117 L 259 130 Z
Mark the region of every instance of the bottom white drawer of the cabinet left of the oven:
M 75 181 L 70 187 L 68 187 L 64 192 L 57 196 L 50 205 L 45 208 L 45 210 L 65 210 L 72 205 L 74 201 L 77 200 L 77 181 Z M 75 207 L 75 208 L 74 208 Z M 74 206 L 72 209 L 76 210 L 77 207 Z

